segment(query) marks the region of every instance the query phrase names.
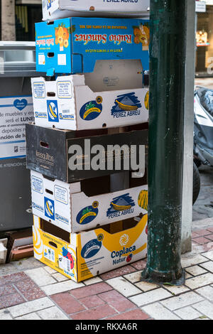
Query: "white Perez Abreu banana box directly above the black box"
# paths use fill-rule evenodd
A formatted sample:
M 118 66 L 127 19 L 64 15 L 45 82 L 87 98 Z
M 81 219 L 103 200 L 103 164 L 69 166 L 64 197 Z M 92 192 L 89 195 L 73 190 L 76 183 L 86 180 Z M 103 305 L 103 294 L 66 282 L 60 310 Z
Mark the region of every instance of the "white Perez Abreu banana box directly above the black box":
M 32 78 L 35 124 L 84 130 L 148 122 L 148 88 L 142 88 L 140 62 L 133 65 L 114 60 L 92 75 Z

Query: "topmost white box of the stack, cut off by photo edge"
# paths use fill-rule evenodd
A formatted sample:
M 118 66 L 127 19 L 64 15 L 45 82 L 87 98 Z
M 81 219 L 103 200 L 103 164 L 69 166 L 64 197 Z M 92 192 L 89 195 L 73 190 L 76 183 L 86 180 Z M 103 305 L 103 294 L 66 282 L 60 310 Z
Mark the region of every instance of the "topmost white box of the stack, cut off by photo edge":
M 71 16 L 148 15 L 150 0 L 43 0 L 43 21 Z

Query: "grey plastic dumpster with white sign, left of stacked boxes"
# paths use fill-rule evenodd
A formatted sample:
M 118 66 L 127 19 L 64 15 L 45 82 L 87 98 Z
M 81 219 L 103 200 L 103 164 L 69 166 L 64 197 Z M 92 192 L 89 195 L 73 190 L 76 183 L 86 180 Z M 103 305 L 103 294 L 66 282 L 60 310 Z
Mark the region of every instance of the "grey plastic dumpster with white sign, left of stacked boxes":
M 0 42 L 0 232 L 31 227 L 25 125 L 33 120 L 35 43 Z

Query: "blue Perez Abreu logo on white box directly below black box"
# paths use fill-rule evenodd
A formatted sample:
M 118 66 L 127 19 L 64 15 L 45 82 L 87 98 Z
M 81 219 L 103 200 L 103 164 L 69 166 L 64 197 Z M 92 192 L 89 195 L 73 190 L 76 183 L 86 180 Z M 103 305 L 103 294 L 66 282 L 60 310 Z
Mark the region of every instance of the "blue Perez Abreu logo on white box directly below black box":
M 133 212 L 133 207 L 135 203 L 129 193 L 113 198 L 110 203 L 110 208 L 107 210 L 107 217 L 117 217 L 122 214 L 129 214 Z M 118 212 L 120 212 L 118 214 Z

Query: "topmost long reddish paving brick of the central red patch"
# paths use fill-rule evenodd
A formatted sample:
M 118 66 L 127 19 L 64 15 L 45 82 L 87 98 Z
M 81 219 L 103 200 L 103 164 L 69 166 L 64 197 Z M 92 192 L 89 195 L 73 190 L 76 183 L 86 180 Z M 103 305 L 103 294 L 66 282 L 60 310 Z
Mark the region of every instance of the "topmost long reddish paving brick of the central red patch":
M 98 293 L 106 292 L 112 290 L 111 286 L 109 286 L 105 282 L 92 284 L 91 286 L 84 286 L 80 289 L 75 289 L 73 291 L 70 291 L 72 296 L 75 296 L 75 298 L 80 299 L 88 296 L 93 296 Z

